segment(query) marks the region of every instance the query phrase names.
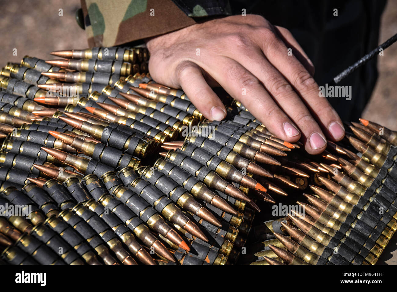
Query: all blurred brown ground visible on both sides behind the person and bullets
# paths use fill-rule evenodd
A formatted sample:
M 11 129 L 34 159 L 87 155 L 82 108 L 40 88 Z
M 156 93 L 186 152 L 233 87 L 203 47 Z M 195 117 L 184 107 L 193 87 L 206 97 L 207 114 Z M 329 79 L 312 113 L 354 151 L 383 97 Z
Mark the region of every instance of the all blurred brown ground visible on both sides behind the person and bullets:
M 59 9 L 63 16 L 59 16 Z M 2 36 L 0 66 L 20 62 L 30 55 L 53 59 L 48 52 L 87 47 L 85 31 L 75 20 L 79 0 L 3 1 L 0 10 Z M 379 43 L 397 32 L 397 1 L 388 1 L 382 17 Z M 13 49 L 17 56 L 13 56 Z M 356 60 L 352 60 L 352 63 Z M 1 67 L 0 67 L 1 68 Z M 378 58 L 379 78 L 363 117 L 397 130 L 397 44 Z M 397 236 L 387 246 L 378 263 L 397 264 Z M 392 257 L 392 255 L 394 255 Z

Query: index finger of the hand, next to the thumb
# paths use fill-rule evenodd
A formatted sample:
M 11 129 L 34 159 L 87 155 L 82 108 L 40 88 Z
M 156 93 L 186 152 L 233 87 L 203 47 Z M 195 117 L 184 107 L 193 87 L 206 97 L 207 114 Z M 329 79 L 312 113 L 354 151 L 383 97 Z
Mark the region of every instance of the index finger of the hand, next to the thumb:
M 299 140 L 301 133 L 274 102 L 260 81 L 238 62 L 222 57 L 211 76 L 258 118 L 272 133 L 286 141 Z M 204 68 L 206 70 L 206 68 Z

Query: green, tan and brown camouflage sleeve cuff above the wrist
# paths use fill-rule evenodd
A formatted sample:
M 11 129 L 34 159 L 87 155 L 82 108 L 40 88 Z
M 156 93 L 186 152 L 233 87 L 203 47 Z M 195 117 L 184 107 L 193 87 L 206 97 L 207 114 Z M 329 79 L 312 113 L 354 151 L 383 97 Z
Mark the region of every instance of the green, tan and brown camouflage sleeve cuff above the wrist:
M 229 15 L 225 0 L 81 0 L 89 46 L 116 46 Z

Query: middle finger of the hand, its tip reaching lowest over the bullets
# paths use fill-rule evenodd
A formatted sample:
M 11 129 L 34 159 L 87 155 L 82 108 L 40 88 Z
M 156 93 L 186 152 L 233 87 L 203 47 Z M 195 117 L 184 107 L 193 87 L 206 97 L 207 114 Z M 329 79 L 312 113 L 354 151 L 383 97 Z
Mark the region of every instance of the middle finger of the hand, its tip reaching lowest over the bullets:
M 234 58 L 249 72 L 257 77 L 266 90 L 272 95 L 278 106 L 298 126 L 304 139 L 306 151 L 317 154 L 324 151 L 326 139 L 316 120 L 310 114 L 305 104 L 293 90 L 288 81 L 266 60 L 260 50 L 252 50 L 249 53 L 235 50 Z M 241 56 L 244 56 L 243 58 Z M 312 137 L 313 136 L 313 137 Z

